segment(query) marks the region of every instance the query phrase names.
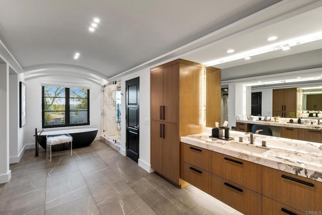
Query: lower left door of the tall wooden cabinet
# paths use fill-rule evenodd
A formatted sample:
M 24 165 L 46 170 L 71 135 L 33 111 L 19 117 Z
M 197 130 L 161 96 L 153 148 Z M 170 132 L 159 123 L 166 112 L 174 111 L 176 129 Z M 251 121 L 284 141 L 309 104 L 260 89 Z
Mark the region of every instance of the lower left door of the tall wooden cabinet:
M 163 123 L 151 120 L 151 167 L 163 174 Z

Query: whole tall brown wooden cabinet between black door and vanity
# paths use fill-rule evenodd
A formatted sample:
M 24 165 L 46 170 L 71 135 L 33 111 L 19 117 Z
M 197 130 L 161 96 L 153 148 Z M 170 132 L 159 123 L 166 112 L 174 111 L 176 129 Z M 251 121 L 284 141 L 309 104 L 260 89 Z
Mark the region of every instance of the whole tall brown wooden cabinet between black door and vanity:
M 150 69 L 151 167 L 177 186 L 180 137 L 202 132 L 203 70 L 183 59 Z

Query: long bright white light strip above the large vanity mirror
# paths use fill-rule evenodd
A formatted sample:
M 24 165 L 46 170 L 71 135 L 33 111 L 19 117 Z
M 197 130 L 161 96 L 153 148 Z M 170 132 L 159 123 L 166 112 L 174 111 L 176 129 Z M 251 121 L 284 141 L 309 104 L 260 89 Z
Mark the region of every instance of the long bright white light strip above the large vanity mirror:
M 285 47 L 286 45 L 288 47 L 292 47 L 292 46 L 301 45 L 304 43 L 313 42 L 313 41 L 321 40 L 321 39 L 322 39 L 322 31 L 319 31 L 319 32 L 316 32 L 313 34 L 308 34 L 308 35 L 305 35 L 302 37 L 297 37 L 297 38 L 294 38 L 291 40 L 286 40 L 286 41 L 278 42 L 278 43 L 271 44 L 268 46 L 263 46 L 263 47 L 255 48 L 255 49 L 252 49 L 249 51 L 234 54 L 231 56 L 218 58 L 218 59 L 211 60 L 208 62 L 203 62 L 203 64 L 205 64 L 206 66 L 214 66 L 217 64 L 226 63 L 226 62 L 230 62 L 233 60 L 243 59 L 245 57 L 250 57 L 250 56 L 255 56 L 258 54 L 263 54 L 263 53 L 267 53 L 267 52 L 271 52 L 271 51 L 280 50 L 283 47 Z

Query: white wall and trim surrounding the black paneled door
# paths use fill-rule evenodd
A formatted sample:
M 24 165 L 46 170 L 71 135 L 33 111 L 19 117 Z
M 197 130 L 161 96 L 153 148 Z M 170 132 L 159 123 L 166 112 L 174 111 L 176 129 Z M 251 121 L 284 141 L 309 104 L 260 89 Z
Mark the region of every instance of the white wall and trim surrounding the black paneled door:
M 151 66 L 152 68 L 153 66 Z M 146 170 L 152 172 L 150 166 L 150 69 L 145 68 L 136 73 L 121 78 L 121 92 L 123 94 L 121 101 L 121 154 L 125 155 L 126 144 L 126 89 L 125 82 L 139 77 L 140 79 L 140 110 L 139 110 L 139 160 L 138 165 Z M 123 105 L 124 104 L 124 105 Z

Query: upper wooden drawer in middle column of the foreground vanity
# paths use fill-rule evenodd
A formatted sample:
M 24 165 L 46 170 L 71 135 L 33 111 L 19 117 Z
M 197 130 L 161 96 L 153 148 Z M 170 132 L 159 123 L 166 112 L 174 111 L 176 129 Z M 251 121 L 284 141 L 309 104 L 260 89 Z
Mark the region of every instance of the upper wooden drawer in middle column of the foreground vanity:
M 262 193 L 262 166 L 212 152 L 212 173 Z

